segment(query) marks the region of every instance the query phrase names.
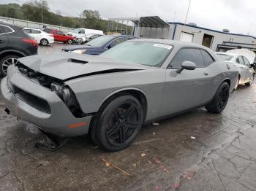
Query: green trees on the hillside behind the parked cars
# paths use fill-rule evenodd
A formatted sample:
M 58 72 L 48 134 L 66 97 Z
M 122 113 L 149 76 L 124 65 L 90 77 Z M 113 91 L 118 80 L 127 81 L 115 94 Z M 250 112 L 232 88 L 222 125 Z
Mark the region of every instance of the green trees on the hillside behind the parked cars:
M 80 17 L 65 17 L 61 15 L 61 12 L 50 12 L 47 1 L 39 0 L 29 1 L 29 3 L 21 6 L 19 4 L 0 4 L 0 16 L 70 28 L 92 28 L 105 32 L 108 28 L 108 20 L 102 20 L 96 10 L 85 9 Z M 116 23 L 110 22 L 109 29 L 111 29 L 111 26 L 116 29 Z M 123 29 L 125 28 L 124 25 Z M 121 24 L 118 24 L 118 29 L 121 29 Z M 131 27 L 128 27 L 129 33 L 130 30 Z

